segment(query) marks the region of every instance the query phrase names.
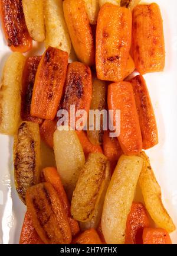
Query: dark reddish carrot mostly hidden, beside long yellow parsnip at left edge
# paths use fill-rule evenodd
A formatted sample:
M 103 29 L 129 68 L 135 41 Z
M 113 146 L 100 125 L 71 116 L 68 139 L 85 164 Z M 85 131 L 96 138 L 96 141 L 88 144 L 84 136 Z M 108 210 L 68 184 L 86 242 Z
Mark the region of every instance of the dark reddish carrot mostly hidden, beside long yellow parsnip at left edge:
M 21 118 L 24 121 L 33 121 L 34 123 L 41 124 L 42 119 L 38 117 L 32 117 L 31 100 L 32 91 L 34 87 L 35 74 L 37 72 L 38 65 L 40 63 L 41 56 L 29 57 L 24 66 L 22 75 L 22 92 L 21 92 Z

